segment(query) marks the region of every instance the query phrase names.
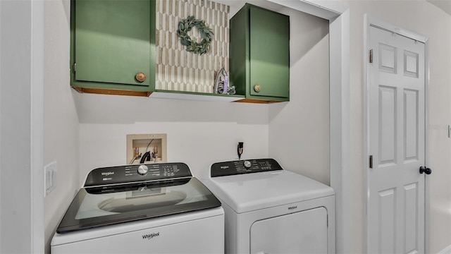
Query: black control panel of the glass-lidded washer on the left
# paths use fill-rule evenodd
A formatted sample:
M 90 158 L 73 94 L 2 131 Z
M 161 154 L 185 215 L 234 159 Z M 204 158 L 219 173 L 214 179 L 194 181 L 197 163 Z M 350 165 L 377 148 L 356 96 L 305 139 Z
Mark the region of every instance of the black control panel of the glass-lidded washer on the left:
M 134 164 L 93 169 L 87 175 L 85 187 L 116 183 L 133 183 L 192 176 L 185 163 Z

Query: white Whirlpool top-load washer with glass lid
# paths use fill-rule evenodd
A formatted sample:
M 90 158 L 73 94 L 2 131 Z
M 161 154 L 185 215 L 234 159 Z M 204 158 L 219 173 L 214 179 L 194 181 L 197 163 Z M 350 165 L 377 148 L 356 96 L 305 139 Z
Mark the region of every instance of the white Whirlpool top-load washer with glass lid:
M 51 240 L 51 253 L 223 252 L 221 202 L 183 163 L 92 170 Z

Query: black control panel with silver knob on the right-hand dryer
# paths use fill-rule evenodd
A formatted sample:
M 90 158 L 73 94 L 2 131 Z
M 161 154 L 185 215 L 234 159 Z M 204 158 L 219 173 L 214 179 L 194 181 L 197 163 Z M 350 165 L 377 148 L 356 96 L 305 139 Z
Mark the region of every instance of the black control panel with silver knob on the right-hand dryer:
M 247 159 L 231 162 L 216 162 L 211 165 L 211 177 L 251 174 L 264 171 L 283 170 L 276 159 Z

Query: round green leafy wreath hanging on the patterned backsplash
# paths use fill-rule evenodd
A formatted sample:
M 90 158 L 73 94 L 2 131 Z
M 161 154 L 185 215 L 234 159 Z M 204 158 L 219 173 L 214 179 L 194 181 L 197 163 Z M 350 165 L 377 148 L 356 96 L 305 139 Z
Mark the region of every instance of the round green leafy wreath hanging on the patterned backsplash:
M 193 27 L 199 30 L 202 42 L 194 42 L 190 35 L 187 35 L 187 32 L 190 32 Z M 188 16 L 178 23 L 177 35 L 180 44 L 186 47 L 187 52 L 201 55 L 209 52 L 210 42 L 213 40 L 213 31 L 205 25 L 204 20 L 197 20 L 194 16 Z

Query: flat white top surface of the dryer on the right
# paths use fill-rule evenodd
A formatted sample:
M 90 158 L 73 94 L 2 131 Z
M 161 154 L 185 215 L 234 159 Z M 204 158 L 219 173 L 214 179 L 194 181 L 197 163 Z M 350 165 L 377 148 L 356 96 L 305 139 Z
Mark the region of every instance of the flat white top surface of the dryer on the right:
M 286 170 L 213 177 L 205 185 L 237 213 L 335 195 L 330 186 Z

